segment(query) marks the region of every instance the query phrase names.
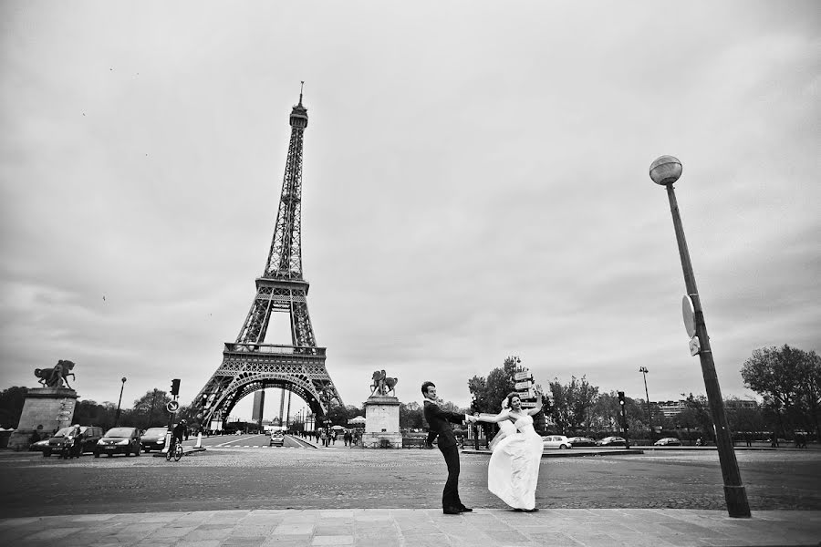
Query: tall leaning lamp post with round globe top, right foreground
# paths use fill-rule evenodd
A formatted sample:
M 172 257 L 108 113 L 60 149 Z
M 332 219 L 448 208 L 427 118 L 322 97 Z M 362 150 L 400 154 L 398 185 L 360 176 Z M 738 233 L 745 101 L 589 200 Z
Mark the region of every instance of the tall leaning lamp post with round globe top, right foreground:
M 744 490 L 741 473 L 738 470 L 738 461 L 735 459 L 733 439 L 724 413 L 722 389 L 719 387 L 718 376 L 715 372 L 715 363 L 712 360 L 710 337 L 707 335 L 707 325 L 704 323 L 704 314 L 701 311 L 701 299 L 696 288 L 695 274 L 692 272 L 690 252 L 687 241 L 684 239 L 684 228 L 681 224 L 679 204 L 673 183 L 681 177 L 681 161 L 672 156 L 661 156 L 650 164 L 650 179 L 660 186 L 667 188 L 667 197 L 670 200 L 673 228 L 676 232 L 676 243 L 679 245 L 681 269 L 684 272 L 684 285 L 692 303 L 694 322 L 694 336 L 691 340 L 691 353 L 698 353 L 701 361 L 701 375 L 704 377 L 704 387 L 707 389 L 707 400 L 710 404 L 712 419 L 715 423 L 715 444 L 719 453 L 719 462 L 722 467 L 724 480 L 724 501 L 731 517 L 750 517 L 750 505 L 747 502 L 747 492 Z

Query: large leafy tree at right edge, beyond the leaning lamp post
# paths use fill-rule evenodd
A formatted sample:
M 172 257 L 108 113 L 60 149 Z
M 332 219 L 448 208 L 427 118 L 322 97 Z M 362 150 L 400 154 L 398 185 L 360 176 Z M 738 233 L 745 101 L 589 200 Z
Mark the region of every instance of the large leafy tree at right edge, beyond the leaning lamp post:
M 816 352 L 794 347 L 763 347 L 742 366 L 744 386 L 764 397 L 764 407 L 774 412 L 780 428 L 801 425 L 819 428 L 821 412 L 821 358 Z

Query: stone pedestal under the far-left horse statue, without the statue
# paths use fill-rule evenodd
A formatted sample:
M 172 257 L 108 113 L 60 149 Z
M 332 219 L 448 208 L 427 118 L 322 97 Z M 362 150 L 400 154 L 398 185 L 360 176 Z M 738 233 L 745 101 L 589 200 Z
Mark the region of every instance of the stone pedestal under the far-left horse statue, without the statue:
M 26 450 L 32 433 L 36 432 L 42 438 L 70 426 L 77 397 L 77 391 L 68 387 L 29 389 L 20 423 L 8 439 L 8 448 Z

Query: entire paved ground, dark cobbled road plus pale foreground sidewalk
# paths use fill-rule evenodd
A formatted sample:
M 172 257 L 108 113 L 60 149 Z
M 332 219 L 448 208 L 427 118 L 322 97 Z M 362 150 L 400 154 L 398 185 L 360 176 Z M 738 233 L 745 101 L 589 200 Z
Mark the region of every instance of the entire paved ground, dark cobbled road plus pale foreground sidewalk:
M 192 448 L 193 441 L 186 443 Z M 179 462 L 0 453 L 8 545 L 313 546 L 819 545 L 821 450 L 739 450 L 751 519 L 727 515 L 711 450 L 542 460 L 536 504 L 486 489 L 463 453 L 472 513 L 443 515 L 438 450 L 265 448 L 206 439 Z

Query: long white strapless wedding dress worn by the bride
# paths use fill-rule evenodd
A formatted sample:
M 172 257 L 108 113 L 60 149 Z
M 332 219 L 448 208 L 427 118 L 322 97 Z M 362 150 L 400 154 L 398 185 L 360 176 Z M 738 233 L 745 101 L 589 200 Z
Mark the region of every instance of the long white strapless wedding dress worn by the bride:
M 536 482 L 544 446 L 533 428 L 532 417 L 525 414 L 513 425 L 518 433 L 507 434 L 499 441 L 487 465 L 487 489 L 514 509 L 531 510 L 535 508 Z M 503 433 L 506 433 L 505 428 Z

